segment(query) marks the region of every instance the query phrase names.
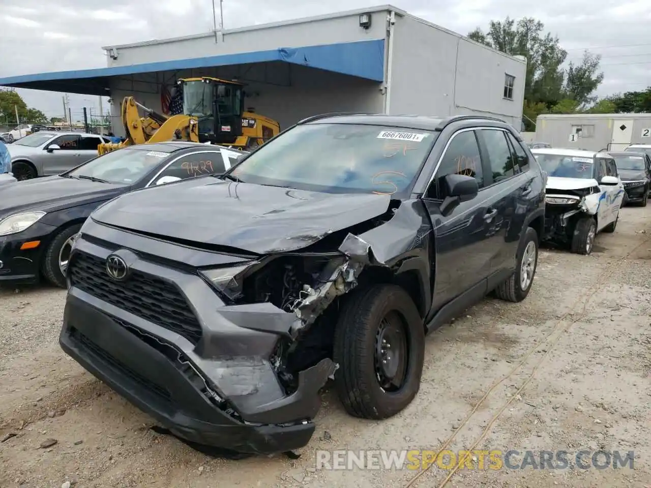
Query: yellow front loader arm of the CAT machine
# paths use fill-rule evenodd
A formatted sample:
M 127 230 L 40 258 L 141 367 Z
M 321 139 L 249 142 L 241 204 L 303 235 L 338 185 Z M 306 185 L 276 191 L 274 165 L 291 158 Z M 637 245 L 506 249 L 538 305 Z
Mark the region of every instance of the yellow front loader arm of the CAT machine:
M 138 109 L 145 113 L 141 117 Z M 105 142 L 98 146 L 100 156 L 134 144 L 153 144 L 165 141 L 199 142 L 199 124 L 189 115 L 165 116 L 136 102 L 132 96 L 122 100 L 120 111 L 126 139 L 119 144 Z

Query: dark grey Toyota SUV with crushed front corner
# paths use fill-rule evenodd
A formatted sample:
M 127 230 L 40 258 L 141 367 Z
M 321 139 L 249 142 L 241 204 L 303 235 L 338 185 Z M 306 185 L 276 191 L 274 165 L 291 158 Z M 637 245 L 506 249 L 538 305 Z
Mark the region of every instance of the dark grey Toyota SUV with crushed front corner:
M 427 332 L 527 296 L 544 186 L 497 119 L 309 118 L 223 176 L 94 211 L 61 347 L 180 439 L 299 448 L 329 377 L 353 416 L 393 416 Z

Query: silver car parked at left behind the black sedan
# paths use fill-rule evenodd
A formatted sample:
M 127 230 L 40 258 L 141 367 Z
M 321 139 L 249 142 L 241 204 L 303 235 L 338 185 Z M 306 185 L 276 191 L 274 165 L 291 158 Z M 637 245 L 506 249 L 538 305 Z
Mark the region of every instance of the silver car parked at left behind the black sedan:
M 97 157 L 97 146 L 110 142 L 96 134 L 38 131 L 7 146 L 16 180 L 51 176 Z

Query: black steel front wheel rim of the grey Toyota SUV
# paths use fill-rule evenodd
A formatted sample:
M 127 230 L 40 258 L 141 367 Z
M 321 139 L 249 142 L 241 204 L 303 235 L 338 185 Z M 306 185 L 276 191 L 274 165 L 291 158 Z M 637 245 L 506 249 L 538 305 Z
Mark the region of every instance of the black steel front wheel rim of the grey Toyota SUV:
M 381 390 L 397 392 L 406 383 L 408 349 L 404 321 L 396 312 L 389 312 L 375 336 L 375 374 Z

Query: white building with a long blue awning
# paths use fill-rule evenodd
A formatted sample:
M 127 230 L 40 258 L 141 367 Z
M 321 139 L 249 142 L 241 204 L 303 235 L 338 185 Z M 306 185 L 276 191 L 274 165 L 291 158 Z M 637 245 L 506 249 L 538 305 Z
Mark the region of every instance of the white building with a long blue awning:
M 245 107 L 281 128 L 338 111 L 478 114 L 521 128 L 524 58 L 390 5 L 104 49 L 107 68 L 15 76 L 0 85 L 109 96 L 116 135 L 124 96 L 161 111 L 161 94 L 193 76 L 242 81 Z

